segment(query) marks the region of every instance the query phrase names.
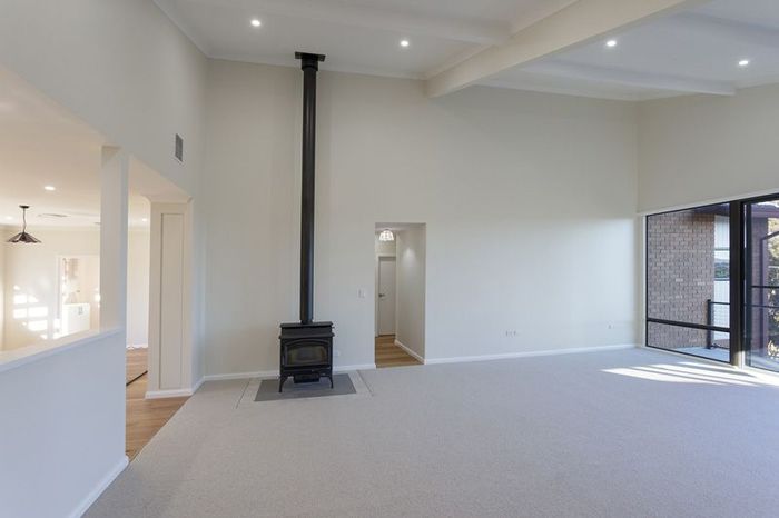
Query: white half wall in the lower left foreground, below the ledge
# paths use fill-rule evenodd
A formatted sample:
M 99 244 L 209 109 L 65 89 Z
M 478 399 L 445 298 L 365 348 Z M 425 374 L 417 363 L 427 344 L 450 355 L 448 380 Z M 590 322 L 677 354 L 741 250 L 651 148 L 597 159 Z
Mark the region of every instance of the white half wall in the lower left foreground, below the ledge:
M 0 352 L 0 515 L 81 516 L 127 464 L 121 333 L 16 367 L 14 352 Z

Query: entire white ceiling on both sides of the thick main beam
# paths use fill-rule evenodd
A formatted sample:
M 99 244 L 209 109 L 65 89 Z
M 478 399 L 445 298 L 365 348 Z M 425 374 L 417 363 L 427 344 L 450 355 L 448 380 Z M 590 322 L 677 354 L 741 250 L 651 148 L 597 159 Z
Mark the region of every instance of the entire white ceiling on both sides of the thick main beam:
M 209 57 L 430 78 L 575 0 L 155 0 Z M 581 0 L 580 0 L 581 1 Z M 252 18 L 263 24 L 253 28 Z M 619 44 L 604 47 L 608 38 Z M 402 49 L 401 39 L 411 46 Z M 732 94 L 779 80 L 779 1 L 713 0 L 480 84 L 607 99 Z M 739 68 L 740 59 L 750 59 Z

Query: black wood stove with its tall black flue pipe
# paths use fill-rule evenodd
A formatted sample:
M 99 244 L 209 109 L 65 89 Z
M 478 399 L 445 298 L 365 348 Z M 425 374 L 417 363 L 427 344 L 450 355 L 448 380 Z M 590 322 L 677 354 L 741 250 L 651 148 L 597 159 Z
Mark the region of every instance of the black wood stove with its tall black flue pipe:
M 322 54 L 296 52 L 303 70 L 303 196 L 300 202 L 300 321 L 282 323 L 278 391 L 326 377 L 333 388 L 333 322 L 314 319 L 314 201 L 316 149 L 316 73 Z

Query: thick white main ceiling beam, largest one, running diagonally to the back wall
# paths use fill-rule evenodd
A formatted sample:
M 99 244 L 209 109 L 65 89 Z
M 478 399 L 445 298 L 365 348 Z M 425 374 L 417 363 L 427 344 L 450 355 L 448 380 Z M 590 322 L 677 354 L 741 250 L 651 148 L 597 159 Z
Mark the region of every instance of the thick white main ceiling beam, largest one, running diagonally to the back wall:
M 703 0 L 579 0 L 427 80 L 438 97 Z

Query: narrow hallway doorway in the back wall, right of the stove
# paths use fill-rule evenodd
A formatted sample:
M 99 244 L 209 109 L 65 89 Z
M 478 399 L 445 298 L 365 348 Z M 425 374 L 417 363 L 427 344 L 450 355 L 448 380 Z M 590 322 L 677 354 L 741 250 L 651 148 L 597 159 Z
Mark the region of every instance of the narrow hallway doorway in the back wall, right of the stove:
M 376 223 L 377 368 L 424 363 L 425 248 L 424 223 Z

